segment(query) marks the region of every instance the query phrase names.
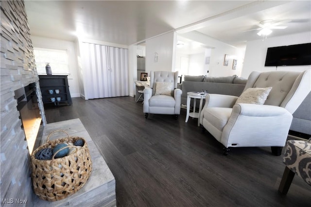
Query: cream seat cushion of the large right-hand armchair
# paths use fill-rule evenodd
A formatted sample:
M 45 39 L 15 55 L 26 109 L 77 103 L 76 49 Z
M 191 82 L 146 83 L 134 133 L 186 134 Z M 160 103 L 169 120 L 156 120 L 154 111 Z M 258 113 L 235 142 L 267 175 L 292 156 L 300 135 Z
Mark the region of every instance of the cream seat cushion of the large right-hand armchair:
M 204 118 L 218 130 L 223 131 L 231 116 L 232 108 L 211 107 L 204 110 Z

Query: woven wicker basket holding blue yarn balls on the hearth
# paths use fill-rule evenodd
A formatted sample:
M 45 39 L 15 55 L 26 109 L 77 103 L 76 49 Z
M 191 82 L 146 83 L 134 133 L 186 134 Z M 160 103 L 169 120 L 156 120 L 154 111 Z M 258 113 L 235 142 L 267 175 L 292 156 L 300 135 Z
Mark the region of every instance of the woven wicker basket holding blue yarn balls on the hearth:
M 69 137 L 66 131 L 63 132 L 68 137 L 49 141 L 50 136 L 57 131 L 63 130 L 53 131 L 48 136 L 47 143 L 38 147 L 31 156 L 34 191 L 39 198 L 46 201 L 58 201 L 72 195 L 85 185 L 92 171 L 92 161 L 86 141 L 81 137 Z M 57 159 L 53 156 L 50 160 L 35 159 L 35 153 L 43 148 L 54 148 L 58 143 L 74 143 L 76 140 L 83 140 L 84 145 L 67 146 L 67 148 L 76 148 L 71 155 Z

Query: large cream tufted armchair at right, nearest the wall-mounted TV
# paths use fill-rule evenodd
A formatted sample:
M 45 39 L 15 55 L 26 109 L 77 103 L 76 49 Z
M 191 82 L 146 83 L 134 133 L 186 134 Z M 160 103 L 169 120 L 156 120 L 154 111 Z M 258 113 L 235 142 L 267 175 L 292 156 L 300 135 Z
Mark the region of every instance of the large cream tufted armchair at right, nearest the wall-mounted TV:
M 259 103 L 254 104 L 256 101 L 253 102 L 251 96 L 247 103 L 247 96 L 243 94 L 249 95 L 249 90 L 258 92 L 258 89 L 265 91 L 259 95 Z M 240 97 L 208 94 L 200 124 L 225 146 L 225 155 L 229 147 L 271 146 L 272 153 L 279 156 L 286 143 L 292 114 L 310 90 L 310 69 L 254 71 Z

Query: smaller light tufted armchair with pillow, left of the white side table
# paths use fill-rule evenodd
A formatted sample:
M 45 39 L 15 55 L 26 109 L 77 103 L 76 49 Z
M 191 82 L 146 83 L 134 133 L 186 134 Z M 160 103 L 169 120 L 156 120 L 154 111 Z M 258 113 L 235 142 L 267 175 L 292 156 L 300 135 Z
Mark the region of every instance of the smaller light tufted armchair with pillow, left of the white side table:
M 177 89 L 178 72 L 151 71 L 150 87 L 144 89 L 144 113 L 180 114 L 182 91 Z

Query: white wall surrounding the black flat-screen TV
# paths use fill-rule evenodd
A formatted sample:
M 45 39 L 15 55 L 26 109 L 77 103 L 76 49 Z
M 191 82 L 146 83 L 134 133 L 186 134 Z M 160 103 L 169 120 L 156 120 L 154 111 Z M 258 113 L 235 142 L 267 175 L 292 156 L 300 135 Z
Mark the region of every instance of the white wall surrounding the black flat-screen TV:
M 271 70 L 295 70 L 304 71 L 311 68 L 311 65 L 297 65 L 297 66 L 278 66 L 276 67 L 265 67 L 265 60 L 267 54 L 267 48 L 296 45 L 311 42 L 311 33 L 302 32 L 291 35 L 268 37 L 267 39 L 254 40 L 247 42 L 245 50 L 245 60 L 242 69 L 241 76 L 248 78 L 249 74 L 254 71 L 271 71 Z

